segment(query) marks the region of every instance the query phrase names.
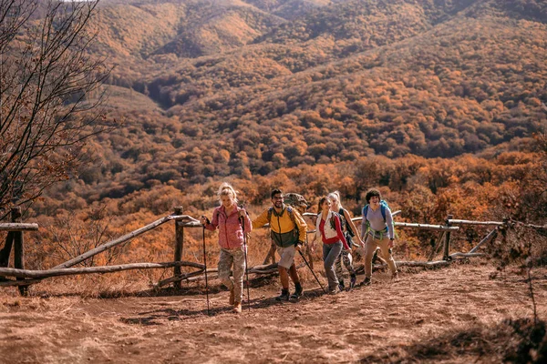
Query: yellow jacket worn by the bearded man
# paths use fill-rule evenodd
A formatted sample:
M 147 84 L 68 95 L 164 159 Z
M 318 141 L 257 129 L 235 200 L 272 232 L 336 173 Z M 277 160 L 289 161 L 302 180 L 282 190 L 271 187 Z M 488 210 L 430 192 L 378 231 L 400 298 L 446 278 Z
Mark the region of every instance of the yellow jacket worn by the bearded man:
M 292 212 L 288 211 L 289 208 Z M 291 213 L 293 214 L 294 222 L 290 216 Z M 268 217 L 271 218 L 271 221 Z M 274 239 L 276 245 L 286 248 L 296 245 L 298 241 L 304 244 L 307 225 L 305 224 L 304 217 L 293 207 L 284 205 L 280 215 L 277 214 L 274 207 L 269 207 L 253 220 L 253 228 L 263 227 L 266 224 L 270 224 L 271 237 Z M 295 227 L 297 228 L 298 235 L 294 231 Z

